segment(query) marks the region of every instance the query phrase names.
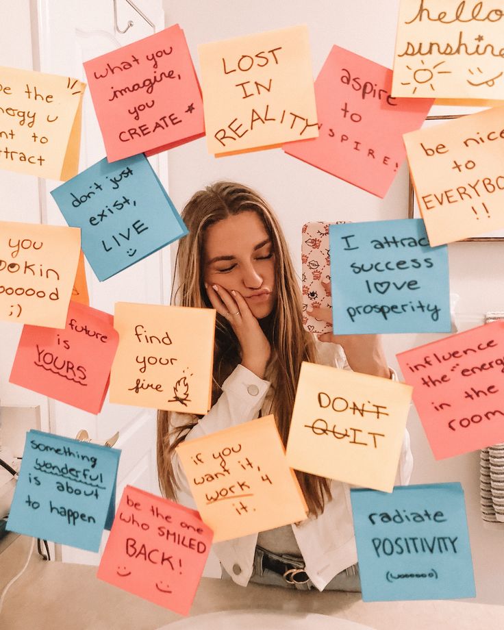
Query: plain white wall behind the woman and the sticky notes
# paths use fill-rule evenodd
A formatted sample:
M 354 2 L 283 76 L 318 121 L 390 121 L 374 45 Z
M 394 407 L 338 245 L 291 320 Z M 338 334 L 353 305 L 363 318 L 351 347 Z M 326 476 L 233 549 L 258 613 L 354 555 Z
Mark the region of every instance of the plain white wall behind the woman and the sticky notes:
M 200 43 L 307 24 L 314 76 L 333 44 L 392 67 L 398 6 L 399 0 L 164 0 L 166 25 L 180 23 L 184 28 L 197 71 Z M 407 216 L 406 165 L 381 200 L 285 155 L 280 149 L 216 159 L 207 154 L 201 138 L 173 149 L 168 160 L 170 196 L 179 210 L 195 190 L 216 179 L 235 179 L 257 188 L 281 218 L 298 271 L 301 225 L 306 221 Z M 504 242 L 452 244 L 449 262 L 451 292 L 460 297 L 460 330 L 483 323 L 483 315 L 489 310 L 504 310 Z M 390 364 L 396 366 L 394 353 L 440 337 L 387 336 Z M 483 528 L 479 515 L 479 453 L 436 462 L 414 409 L 408 427 L 416 462 L 412 483 L 462 482 L 477 601 L 504 604 L 504 530 Z

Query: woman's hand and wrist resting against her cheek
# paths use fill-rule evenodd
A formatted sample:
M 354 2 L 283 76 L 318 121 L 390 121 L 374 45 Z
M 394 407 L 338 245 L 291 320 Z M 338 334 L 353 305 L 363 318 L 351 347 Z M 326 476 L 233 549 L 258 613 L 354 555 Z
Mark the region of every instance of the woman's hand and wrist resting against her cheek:
M 205 283 L 205 288 L 212 306 L 229 321 L 240 342 L 242 365 L 260 379 L 264 378 L 271 346 L 247 301 L 238 291 L 229 293 L 217 284 L 210 286 Z

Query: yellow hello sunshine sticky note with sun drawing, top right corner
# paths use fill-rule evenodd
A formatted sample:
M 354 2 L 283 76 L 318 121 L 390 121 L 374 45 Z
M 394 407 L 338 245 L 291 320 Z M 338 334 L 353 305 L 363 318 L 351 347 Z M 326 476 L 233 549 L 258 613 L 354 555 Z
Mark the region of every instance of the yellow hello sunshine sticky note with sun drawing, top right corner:
M 502 2 L 401 0 L 392 96 L 504 99 L 503 29 Z

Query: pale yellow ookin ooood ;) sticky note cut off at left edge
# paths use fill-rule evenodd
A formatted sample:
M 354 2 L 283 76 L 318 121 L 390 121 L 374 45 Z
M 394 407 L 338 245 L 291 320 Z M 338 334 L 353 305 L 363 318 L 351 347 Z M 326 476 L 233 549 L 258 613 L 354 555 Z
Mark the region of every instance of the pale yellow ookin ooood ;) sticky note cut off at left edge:
M 80 242 L 75 227 L 0 221 L 0 319 L 64 328 Z

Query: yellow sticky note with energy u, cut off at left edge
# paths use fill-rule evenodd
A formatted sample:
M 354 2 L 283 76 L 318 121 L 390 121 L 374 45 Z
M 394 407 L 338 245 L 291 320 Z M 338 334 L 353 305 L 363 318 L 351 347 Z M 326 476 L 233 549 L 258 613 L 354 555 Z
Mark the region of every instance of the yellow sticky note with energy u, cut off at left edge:
M 77 175 L 85 88 L 72 77 L 0 67 L 0 168 Z

